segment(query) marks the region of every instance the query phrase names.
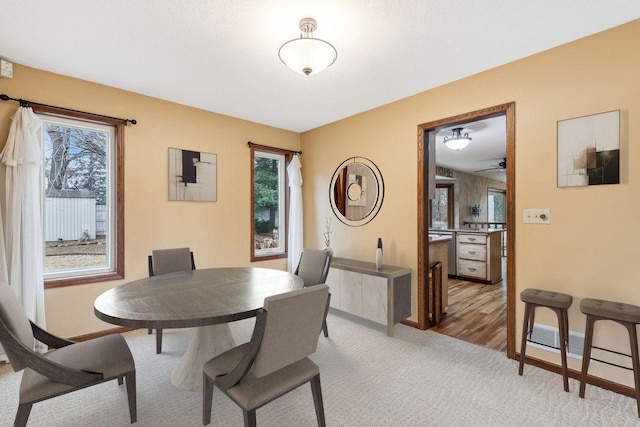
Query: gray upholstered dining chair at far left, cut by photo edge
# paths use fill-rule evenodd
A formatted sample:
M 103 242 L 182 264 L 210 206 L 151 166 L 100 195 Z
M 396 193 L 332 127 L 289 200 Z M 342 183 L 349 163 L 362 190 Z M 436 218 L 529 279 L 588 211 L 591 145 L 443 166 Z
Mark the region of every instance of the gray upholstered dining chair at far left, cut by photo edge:
M 53 347 L 33 350 L 34 339 Z M 32 323 L 6 282 L 0 282 L 0 342 L 14 372 L 24 369 L 15 426 L 25 426 L 34 403 L 113 379 L 127 382 L 129 416 L 137 420 L 136 369 L 122 335 L 74 343 Z

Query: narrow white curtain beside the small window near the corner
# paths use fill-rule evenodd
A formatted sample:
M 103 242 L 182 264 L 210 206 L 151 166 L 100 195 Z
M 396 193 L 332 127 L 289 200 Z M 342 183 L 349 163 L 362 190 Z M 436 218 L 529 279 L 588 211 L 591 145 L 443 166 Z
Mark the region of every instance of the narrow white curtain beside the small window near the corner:
M 289 273 L 296 271 L 303 245 L 302 227 L 302 164 L 297 154 L 293 156 L 287 174 L 289 176 Z

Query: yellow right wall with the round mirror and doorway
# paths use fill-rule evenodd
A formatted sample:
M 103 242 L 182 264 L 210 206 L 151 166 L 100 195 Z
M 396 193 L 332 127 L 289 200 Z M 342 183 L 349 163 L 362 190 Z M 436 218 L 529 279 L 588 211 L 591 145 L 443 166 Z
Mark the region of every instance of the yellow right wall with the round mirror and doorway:
M 585 321 L 581 298 L 640 305 L 640 221 L 633 213 L 640 209 L 640 177 L 633 172 L 640 170 L 640 150 L 633 148 L 640 138 L 638 46 L 640 21 L 633 21 L 302 134 L 305 245 L 323 245 L 335 167 L 351 156 L 368 157 L 384 176 L 382 210 L 359 228 L 334 220 L 331 246 L 335 256 L 373 261 L 376 239 L 382 237 L 385 263 L 413 270 L 415 296 L 417 126 L 514 101 L 516 295 L 527 287 L 573 295 L 570 329 L 578 332 Z M 557 188 L 557 121 L 617 109 L 622 117 L 620 185 Z M 550 209 L 551 223 L 523 224 L 526 208 Z M 523 306 L 516 299 L 519 343 Z M 557 326 L 555 315 L 544 311 L 536 320 Z M 597 325 L 596 340 L 629 351 L 623 328 L 612 322 Z M 559 363 L 549 352 L 528 354 Z M 569 364 L 580 369 L 577 360 Z M 594 363 L 590 373 L 633 385 L 631 374 L 617 368 Z

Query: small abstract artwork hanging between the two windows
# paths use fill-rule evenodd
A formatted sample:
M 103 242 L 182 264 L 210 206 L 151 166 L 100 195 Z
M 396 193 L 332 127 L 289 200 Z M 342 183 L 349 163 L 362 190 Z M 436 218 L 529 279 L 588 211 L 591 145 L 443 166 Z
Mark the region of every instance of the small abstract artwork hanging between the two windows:
M 169 148 L 169 200 L 215 202 L 218 156 Z

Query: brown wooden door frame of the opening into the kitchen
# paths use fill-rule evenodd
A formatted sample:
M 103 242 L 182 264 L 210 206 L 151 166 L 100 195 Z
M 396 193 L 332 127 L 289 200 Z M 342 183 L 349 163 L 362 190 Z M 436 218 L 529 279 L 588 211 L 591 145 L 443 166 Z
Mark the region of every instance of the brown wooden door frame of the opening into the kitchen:
M 507 357 L 515 359 L 515 102 L 496 105 L 418 125 L 418 328 L 429 327 L 429 152 L 425 136 L 438 129 L 491 117 L 506 117 L 507 143 Z M 446 273 L 445 273 L 446 274 Z

